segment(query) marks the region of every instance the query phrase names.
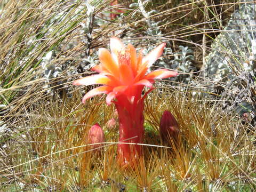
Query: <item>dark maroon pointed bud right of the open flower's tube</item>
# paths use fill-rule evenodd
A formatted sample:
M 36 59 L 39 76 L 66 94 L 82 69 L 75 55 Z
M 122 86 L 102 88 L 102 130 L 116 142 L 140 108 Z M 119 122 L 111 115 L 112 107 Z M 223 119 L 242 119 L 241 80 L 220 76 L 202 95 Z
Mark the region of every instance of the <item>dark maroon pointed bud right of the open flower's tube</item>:
M 179 124 L 169 110 L 165 110 L 160 121 L 160 135 L 163 140 L 177 137 Z

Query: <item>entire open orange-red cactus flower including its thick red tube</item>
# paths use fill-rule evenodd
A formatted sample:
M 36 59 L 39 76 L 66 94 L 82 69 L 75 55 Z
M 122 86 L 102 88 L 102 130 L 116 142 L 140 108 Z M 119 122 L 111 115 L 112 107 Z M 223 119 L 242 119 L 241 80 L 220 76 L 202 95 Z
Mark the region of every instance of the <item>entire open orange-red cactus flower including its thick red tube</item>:
M 125 47 L 118 38 L 110 38 L 111 53 L 105 48 L 99 49 L 101 64 L 92 68 L 99 74 L 78 79 L 73 83 L 74 85 L 103 84 L 87 92 L 83 97 L 83 103 L 86 99 L 102 93 L 108 94 L 107 105 L 111 102 L 115 103 L 119 117 L 120 143 L 117 152 L 118 161 L 122 166 L 133 162 L 133 159 L 142 154 L 140 145 L 127 145 L 124 142 L 143 142 L 143 101 L 148 92 L 153 90 L 154 79 L 178 75 L 177 72 L 167 69 L 158 69 L 146 74 L 148 68 L 162 55 L 164 47 L 165 43 L 162 43 L 146 57 L 142 57 L 142 52 L 137 57 L 136 50 L 131 44 Z M 150 90 L 142 96 L 145 86 Z

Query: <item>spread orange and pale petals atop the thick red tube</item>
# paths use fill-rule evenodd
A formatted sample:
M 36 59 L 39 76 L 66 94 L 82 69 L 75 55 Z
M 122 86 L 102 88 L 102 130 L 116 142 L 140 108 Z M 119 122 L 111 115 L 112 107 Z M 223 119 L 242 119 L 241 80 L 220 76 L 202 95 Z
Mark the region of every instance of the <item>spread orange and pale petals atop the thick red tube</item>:
M 135 97 L 141 97 L 143 86 L 153 87 L 154 79 L 177 76 L 176 71 L 167 69 L 158 69 L 146 75 L 148 68 L 162 55 L 164 47 L 165 43 L 162 43 L 142 58 L 142 52 L 137 57 L 136 50 L 131 44 L 128 44 L 125 49 L 118 38 L 110 38 L 111 53 L 105 48 L 99 49 L 101 64 L 92 68 L 99 74 L 78 79 L 73 83 L 74 85 L 103 85 L 87 92 L 82 102 L 102 93 L 108 94 L 106 98 L 108 105 L 121 94 L 127 95 L 132 102 Z

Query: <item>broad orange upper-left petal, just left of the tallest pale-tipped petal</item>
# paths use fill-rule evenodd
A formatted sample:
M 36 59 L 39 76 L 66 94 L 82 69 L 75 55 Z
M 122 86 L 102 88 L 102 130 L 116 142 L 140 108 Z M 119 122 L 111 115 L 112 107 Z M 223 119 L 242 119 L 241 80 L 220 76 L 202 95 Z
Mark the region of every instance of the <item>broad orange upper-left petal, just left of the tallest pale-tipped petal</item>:
M 99 49 L 99 60 L 102 64 L 102 68 L 107 70 L 114 76 L 119 76 L 119 69 L 117 63 L 114 61 L 110 52 L 105 48 Z

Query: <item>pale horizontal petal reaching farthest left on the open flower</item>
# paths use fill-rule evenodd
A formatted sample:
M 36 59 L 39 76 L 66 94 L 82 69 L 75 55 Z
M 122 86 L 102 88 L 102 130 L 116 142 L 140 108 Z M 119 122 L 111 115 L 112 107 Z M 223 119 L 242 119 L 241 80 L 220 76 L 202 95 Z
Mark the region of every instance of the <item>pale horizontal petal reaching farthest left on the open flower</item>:
M 110 83 L 111 83 L 110 79 L 105 75 L 91 75 L 91 76 L 77 79 L 76 81 L 73 82 L 73 85 L 94 85 L 94 84 L 108 85 Z

